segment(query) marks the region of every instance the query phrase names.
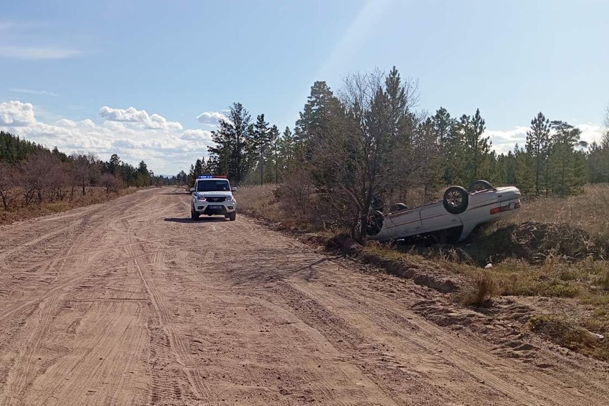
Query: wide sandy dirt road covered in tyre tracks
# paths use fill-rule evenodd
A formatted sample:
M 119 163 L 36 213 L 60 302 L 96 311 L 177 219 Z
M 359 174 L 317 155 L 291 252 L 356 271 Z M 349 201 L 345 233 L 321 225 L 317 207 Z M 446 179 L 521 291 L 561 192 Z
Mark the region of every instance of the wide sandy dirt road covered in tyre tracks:
M 602 364 L 440 327 L 439 293 L 188 198 L 0 228 L 0 406 L 609 403 Z

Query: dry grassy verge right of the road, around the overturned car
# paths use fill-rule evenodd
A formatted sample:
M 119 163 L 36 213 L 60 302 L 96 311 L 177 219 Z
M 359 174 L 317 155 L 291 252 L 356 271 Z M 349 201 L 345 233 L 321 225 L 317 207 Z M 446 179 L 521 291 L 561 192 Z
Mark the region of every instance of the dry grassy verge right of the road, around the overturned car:
M 269 184 L 242 187 L 240 211 L 275 228 L 318 234 L 322 242 L 339 234 L 295 222 L 282 211 L 274 190 Z M 464 244 L 421 248 L 371 242 L 357 248 L 357 255 L 415 282 L 446 288 L 443 292 L 452 291 L 445 278 L 454 279 L 458 287 L 451 296 L 463 306 L 492 307 L 498 296 L 560 298 L 568 312 L 532 309 L 523 329 L 609 361 L 609 338 L 595 335 L 609 333 L 607 201 L 609 185 L 591 186 L 574 197 L 526 201 L 513 222 L 482 229 Z M 492 266 L 486 268 L 488 263 Z

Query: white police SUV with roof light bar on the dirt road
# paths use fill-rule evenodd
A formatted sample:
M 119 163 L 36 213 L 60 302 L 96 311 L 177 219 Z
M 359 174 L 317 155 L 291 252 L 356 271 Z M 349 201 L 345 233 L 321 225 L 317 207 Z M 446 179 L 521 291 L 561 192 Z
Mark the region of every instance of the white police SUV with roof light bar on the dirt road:
M 199 176 L 191 187 L 191 219 L 198 220 L 202 214 L 224 215 L 234 222 L 237 215 L 237 201 L 234 200 L 235 187 L 230 187 L 225 176 Z

